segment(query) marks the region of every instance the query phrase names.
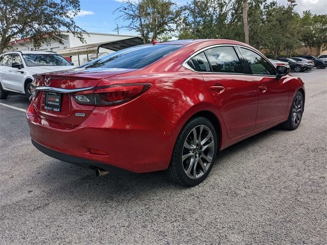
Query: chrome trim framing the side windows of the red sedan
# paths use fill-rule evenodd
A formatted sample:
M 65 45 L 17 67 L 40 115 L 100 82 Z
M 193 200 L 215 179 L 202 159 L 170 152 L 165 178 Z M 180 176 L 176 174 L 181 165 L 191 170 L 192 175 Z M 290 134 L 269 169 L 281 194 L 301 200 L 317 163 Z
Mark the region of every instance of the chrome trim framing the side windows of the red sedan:
M 276 68 L 273 66 L 273 64 L 268 60 L 268 58 L 264 57 L 262 54 L 260 54 L 259 52 L 253 50 L 252 48 L 246 47 L 246 46 L 242 46 L 239 44 L 215 44 L 215 45 L 211 45 L 211 46 L 207 46 L 202 48 L 201 50 L 193 53 L 192 55 L 190 55 L 188 58 L 186 58 L 183 62 L 182 62 L 182 66 L 185 67 L 186 69 L 192 70 L 194 72 L 197 73 L 204 73 L 204 74 L 228 74 L 228 75 L 249 75 L 249 76 L 261 76 L 261 77 L 276 77 L 276 75 L 260 75 L 260 74 L 246 74 L 246 73 L 236 73 L 236 72 L 214 72 L 214 71 L 196 71 L 194 69 L 192 69 L 187 63 L 189 62 L 189 60 L 191 60 L 194 56 L 197 56 L 198 54 L 200 54 L 201 52 L 204 52 L 210 48 L 214 48 L 214 47 L 225 47 L 225 46 L 229 46 L 229 47 L 243 47 L 246 48 L 247 50 L 250 50 L 252 52 L 254 52 L 255 54 L 259 55 L 260 57 L 264 58 L 272 67 L 273 69 L 276 71 Z M 241 51 L 240 51 L 241 52 Z M 237 54 L 237 53 L 236 53 Z M 242 54 L 242 53 L 241 53 Z M 208 61 L 209 62 L 209 61 Z

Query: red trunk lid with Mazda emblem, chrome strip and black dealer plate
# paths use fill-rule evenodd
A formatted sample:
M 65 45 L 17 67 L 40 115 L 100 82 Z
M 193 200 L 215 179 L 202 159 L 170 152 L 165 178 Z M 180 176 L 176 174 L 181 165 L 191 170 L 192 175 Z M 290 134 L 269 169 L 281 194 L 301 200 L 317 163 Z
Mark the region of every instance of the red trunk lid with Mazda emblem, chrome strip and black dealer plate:
M 76 92 L 92 93 L 104 78 L 133 71 L 118 68 L 75 68 L 35 75 L 33 105 L 36 114 L 49 127 L 72 129 L 82 124 L 95 108 L 80 105 L 73 99 Z

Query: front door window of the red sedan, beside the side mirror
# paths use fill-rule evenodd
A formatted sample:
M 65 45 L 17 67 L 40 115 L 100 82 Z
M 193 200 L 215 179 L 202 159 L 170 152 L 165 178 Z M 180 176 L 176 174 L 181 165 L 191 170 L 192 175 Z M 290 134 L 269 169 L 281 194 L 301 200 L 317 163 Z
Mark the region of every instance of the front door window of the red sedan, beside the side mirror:
M 254 75 L 275 75 L 274 68 L 260 55 L 248 50 L 240 48 L 243 59 L 250 65 L 252 74 Z M 281 59 L 282 60 L 282 59 Z

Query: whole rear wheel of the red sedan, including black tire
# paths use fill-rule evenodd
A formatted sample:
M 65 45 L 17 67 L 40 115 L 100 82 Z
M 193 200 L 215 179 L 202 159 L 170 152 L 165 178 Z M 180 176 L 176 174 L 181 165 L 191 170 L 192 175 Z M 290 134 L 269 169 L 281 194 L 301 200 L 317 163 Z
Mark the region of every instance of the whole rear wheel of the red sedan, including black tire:
M 203 143 L 203 145 L 200 143 L 200 145 L 197 144 L 197 146 L 194 146 L 194 130 L 196 133 L 201 135 L 200 142 Z M 198 135 L 195 135 L 197 136 L 195 137 L 196 142 L 199 142 Z M 188 141 L 190 138 L 193 138 L 191 142 Z M 205 139 L 207 140 L 203 142 Z M 193 148 L 193 146 L 196 148 Z M 191 148 L 193 150 L 191 150 Z M 166 170 L 167 175 L 172 181 L 184 186 L 190 187 L 200 184 L 210 173 L 214 165 L 217 148 L 218 136 L 212 122 L 202 116 L 190 119 L 183 126 L 177 137 L 171 162 L 168 169 Z M 182 156 L 188 157 L 182 160 Z M 212 160 L 209 162 L 207 159 Z M 189 173 L 185 167 L 189 170 L 191 169 Z

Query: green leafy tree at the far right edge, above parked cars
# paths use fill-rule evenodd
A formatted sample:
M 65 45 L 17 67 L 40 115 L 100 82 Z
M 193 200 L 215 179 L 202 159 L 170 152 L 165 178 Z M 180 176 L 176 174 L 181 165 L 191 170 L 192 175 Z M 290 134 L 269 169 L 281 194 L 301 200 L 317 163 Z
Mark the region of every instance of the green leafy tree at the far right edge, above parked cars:
M 327 48 L 327 14 L 317 15 L 305 11 L 300 23 L 303 30 L 301 41 L 309 47 L 317 48 L 318 56 L 321 48 Z

